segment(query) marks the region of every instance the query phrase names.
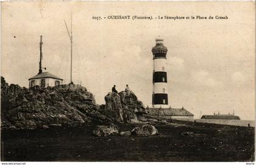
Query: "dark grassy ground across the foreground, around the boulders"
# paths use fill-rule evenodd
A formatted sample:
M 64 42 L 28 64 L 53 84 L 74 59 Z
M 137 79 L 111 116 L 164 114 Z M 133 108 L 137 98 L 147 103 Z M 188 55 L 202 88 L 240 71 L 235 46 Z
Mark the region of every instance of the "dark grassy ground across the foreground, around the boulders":
M 1 130 L 1 161 L 254 161 L 253 127 L 174 122 L 153 124 L 160 135 L 148 137 L 96 137 L 95 125 Z

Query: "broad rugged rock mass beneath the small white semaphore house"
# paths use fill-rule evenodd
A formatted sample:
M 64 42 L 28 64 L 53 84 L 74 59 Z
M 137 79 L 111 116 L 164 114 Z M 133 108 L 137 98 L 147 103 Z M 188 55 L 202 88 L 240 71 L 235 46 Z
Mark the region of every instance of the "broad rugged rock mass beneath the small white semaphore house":
M 1 77 L 1 127 L 47 128 L 113 122 L 98 111 L 93 94 L 82 86 L 21 88 Z

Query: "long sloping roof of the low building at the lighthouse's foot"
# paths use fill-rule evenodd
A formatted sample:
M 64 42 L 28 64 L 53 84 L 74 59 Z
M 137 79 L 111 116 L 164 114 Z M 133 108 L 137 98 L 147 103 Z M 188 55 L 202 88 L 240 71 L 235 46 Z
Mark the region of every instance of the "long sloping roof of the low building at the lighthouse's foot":
M 149 115 L 165 115 L 165 116 L 194 116 L 185 108 L 147 108 Z M 158 113 L 159 110 L 159 113 Z

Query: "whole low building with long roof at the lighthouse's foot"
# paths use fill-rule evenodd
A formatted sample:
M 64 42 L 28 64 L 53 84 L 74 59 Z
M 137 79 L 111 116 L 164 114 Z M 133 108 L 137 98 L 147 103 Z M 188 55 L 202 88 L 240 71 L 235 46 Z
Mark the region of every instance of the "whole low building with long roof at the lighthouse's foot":
M 149 116 L 165 119 L 193 119 L 194 114 L 185 108 L 146 108 Z

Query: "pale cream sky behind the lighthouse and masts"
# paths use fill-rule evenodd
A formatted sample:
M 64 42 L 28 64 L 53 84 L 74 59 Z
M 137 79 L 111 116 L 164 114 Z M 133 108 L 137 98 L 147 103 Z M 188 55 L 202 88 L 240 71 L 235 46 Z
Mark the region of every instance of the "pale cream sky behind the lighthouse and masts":
M 70 79 L 73 13 L 73 79 L 98 104 L 126 84 L 145 106 L 152 101 L 152 47 L 168 47 L 168 95 L 173 108 L 200 114 L 233 113 L 255 118 L 254 2 L 2 2 L 1 75 L 29 86 L 38 73 L 40 35 L 43 67 Z M 229 19 L 101 19 L 93 16 L 228 16 Z

